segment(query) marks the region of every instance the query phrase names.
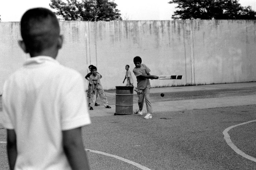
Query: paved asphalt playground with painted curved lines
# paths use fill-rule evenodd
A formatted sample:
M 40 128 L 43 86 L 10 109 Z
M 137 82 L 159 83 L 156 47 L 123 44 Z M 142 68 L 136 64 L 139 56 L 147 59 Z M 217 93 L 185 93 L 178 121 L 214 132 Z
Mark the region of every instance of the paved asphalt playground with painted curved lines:
M 151 93 L 150 120 L 114 115 L 115 90 L 106 91 L 111 109 L 89 111 L 92 124 L 83 136 L 91 169 L 256 169 L 256 82 L 152 88 Z M 135 93 L 133 98 L 135 111 Z M 0 143 L 0 169 L 8 169 L 5 146 Z

